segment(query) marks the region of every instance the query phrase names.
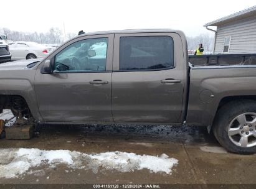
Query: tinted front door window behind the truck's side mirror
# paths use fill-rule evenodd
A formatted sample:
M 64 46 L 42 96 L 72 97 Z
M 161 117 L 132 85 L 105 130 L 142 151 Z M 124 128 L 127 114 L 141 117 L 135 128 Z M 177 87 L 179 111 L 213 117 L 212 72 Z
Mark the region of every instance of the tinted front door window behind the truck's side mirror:
M 55 71 L 105 71 L 108 38 L 85 39 L 64 48 L 55 56 Z

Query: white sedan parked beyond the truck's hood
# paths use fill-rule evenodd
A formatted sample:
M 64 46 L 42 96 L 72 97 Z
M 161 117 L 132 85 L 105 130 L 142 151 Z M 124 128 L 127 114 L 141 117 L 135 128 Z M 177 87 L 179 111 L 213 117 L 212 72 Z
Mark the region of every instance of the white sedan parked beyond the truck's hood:
M 32 58 L 43 58 L 54 50 L 53 47 L 46 47 L 35 42 L 11 42 L 9 52 L 12 54 L 11 60 L 25 60 Z

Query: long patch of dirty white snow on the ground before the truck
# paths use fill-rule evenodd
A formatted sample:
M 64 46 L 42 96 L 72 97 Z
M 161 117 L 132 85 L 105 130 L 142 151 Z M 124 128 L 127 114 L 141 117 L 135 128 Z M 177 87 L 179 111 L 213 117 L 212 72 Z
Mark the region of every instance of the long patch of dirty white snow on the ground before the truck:
M 41 174 L 44 170 L 40 166 L 50 169 L 58 164 L 65 164 L 73 169 L 90 169 L 94 173 L 99 168 L 119 172 L 146 168 L 154 173 L 171 174 L 171 168 L 178 165 L 178 160 L 169 158 L 166 154 L 158 157 L 118 151 L 85 154 L 70 150 L 0 149 L 0 178 L 19 178 L 26 173 Z

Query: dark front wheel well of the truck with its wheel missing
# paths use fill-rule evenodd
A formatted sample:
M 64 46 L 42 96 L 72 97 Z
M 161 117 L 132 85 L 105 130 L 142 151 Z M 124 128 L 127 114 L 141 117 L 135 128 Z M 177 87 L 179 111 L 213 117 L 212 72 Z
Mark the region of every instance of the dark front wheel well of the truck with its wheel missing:
M 0 113 L 2 113 L 3 109 L 11 109 L 14 115 L 22 113 L 22 116 L 26 118 L 32 117 L 26 99 L 19 95 L 0 95 Z

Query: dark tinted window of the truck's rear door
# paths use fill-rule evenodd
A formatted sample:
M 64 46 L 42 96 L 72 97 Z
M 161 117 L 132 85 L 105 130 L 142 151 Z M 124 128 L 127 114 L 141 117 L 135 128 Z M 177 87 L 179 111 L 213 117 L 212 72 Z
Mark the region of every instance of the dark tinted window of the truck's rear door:
M 120 37 L 120 70 L 159 70 L 174 67 L 173 38 Z

